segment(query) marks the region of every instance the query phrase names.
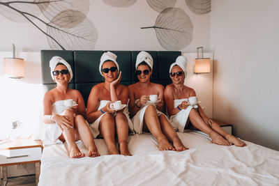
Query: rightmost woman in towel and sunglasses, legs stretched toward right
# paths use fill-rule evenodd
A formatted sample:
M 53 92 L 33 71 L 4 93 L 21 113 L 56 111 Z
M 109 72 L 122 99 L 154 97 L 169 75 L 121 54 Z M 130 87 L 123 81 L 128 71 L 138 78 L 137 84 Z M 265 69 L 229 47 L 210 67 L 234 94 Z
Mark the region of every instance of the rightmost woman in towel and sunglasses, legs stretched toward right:
M 186 64 L 186 59 L 179 56 L 169 68 L 172 84 L 166 86 L 164 97 L 173 127 L 183 132 L 185 127 L 192 123 L 194 127 L 208 134 L 213 144 L 246 146 L 243 141 L 227 134 L 215 121 L 208 118 L 199 104 L 197 109 L 188 104 L 188 98 L 196 96 L 196 93 L 193 88 L 184 85 Z

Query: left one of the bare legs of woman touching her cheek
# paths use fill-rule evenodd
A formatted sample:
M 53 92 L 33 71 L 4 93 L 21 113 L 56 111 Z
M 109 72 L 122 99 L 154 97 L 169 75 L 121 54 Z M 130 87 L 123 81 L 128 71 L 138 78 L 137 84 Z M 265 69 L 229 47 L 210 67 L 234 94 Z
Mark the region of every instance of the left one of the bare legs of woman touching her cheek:
M 105 114 L 100 119 L 99 130 L 100 134 L 102 134 L 103 138 L 105 139 L 105 144 L 107 144 L 107 150 L 109 150 L 110 155 L 119 155 L 119 152 L 115 145 L 115 124 L 114 124 L 114 117 L 112 114 Z

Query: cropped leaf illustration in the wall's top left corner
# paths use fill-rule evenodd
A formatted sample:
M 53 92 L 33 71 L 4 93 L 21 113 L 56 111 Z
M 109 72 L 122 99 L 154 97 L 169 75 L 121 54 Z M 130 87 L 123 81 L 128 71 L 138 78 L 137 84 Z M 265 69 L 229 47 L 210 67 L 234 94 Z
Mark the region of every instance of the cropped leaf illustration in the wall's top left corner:
M 0 1 L 0 13 L 4 17 L 14 22 L 28 22 L 28 20 L 18 13 L 15 9 L 22 12 L 31 12 L 33 15 L 38 16 L 41 14 L 40 8 L 32 3 L 33 0 L 3 0 Z M 5 6 L 1 6 L 5 5 Z M 33 17 L 29 17 L 33 20 Z

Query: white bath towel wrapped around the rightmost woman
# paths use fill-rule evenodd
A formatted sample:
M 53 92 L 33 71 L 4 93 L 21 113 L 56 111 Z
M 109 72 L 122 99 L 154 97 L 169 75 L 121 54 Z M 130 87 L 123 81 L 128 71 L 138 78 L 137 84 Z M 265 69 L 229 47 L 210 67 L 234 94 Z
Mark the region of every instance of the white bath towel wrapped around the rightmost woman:
M 183 101 L 188 102 L 188 98 L 174 100 L 174 108 L 179 106 L 179 104 L 181 104 L 181 102 Z M 179 132 L 184 132 L 188 116 L 190 114 L 191 109 L 193 108 L 193 106 L 189 105 L 186 109 L 181 109 L 181 111 L 179 111 L 179 113 L 175 114 L 174 116 L 170 116 L 169 121 L 175 130 L 178 130 Z

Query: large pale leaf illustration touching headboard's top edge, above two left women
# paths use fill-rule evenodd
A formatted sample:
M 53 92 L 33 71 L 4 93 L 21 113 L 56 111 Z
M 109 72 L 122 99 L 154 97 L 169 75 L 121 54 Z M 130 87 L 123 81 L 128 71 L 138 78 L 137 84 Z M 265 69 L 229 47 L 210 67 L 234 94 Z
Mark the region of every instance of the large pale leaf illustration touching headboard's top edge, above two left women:
M 69 20 L 65 15 L 73 18 Z M 65 10 L 56 15 L 47 25 L 49 35 L 47 40 L 52 49 L 93 49 L 95 47 L 98 31 L 88 18 L 77 24 L 80 22 L 80 17 L 86 16 L 75 10 Z M 76 26 L 71 27 L 73 25 Z

